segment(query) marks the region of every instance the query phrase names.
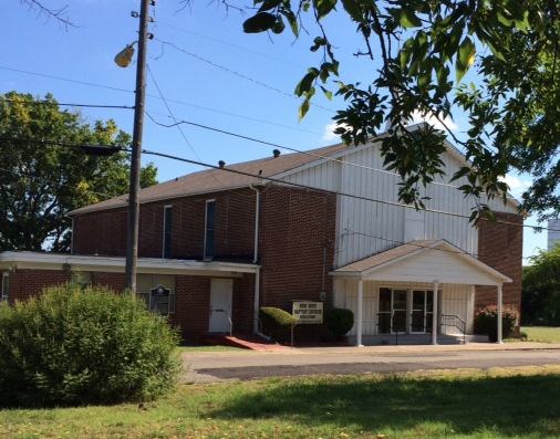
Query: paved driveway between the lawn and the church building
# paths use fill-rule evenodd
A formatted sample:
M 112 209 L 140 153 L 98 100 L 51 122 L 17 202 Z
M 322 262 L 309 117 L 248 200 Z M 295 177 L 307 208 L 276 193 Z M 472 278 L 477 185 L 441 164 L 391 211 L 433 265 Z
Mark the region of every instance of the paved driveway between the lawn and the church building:
M 315 374 L 560 365 L 560 344 L 294 348 L 185 353 L 184 381 L 208 383 Z

